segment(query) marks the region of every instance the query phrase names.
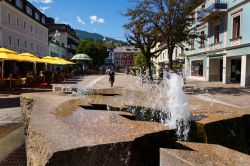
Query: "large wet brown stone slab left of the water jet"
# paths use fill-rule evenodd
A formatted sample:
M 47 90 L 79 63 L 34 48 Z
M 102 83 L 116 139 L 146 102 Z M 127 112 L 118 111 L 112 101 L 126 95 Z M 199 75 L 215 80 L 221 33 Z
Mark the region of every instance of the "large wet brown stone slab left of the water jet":
M 103 93 L 103 91 L 102 91 Z M 32 110 L 27 132 L 28 165 L 159 165 L 159 148 L 173 147 L 175 131 L 154 122 L 133 121 L 129 113 L 86 110 L 79 105 L 123 106 L 121 90 L 111 96 L 71 97 L 25 94 Z M 30 102 L 28 102 L 30 100 Z M 123 101 L 123 102 L 124 102 Z M 27 118 L 26 118 L 27 119 Z

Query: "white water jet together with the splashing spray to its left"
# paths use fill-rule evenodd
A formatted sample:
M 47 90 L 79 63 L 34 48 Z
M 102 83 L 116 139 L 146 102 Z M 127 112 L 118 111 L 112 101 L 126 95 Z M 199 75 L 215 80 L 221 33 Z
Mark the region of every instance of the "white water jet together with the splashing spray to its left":
M 135 96 L 129 96 L 129 108 L 126 110 L 134 114 L 138 120 L 160 122 L 176 129 L 178 140 L 187 140 L 190 130 L 190 113 L 188 101 L 184 93 L 184 82 L 178 73 L 164 73 L 161 84 L 144 85 L 144 100 L 148 101 L 143 107 L 136 107 Z

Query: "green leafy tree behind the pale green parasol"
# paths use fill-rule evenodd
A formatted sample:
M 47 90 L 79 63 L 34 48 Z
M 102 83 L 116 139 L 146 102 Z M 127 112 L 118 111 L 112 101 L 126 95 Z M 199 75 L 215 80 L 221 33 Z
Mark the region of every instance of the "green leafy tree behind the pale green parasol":
M 104 59 L 108 57 L 107 47 L 103 43 L 89 40 L 81 40 L 77 47 L 77 53 L 84 53 L 93 59 L 93 66 L 98 68 L 104 63 Z

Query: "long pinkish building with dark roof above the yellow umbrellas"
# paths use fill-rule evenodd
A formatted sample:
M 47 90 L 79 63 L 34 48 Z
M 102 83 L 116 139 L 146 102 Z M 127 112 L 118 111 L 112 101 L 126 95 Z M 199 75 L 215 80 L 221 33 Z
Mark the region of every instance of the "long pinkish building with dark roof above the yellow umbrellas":
M 39 57 L 47 55 L 46 18 L 26 0 L 0 0 L 0 47 Z

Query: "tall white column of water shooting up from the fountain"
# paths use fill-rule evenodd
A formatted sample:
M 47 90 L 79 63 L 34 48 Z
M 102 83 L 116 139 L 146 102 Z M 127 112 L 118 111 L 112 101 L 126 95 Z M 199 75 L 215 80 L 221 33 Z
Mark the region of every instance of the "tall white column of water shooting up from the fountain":
M 183 86 L 183 79 L 179 74 L 171 73 L 163 79 L 164 93 L 167 95 L 168 102 L 161 111 L 168 115 L 167 118 L 162 119 L 162 123 L 176 128 L 178 139 L 187 140 L 190 114 Z

